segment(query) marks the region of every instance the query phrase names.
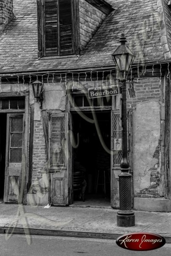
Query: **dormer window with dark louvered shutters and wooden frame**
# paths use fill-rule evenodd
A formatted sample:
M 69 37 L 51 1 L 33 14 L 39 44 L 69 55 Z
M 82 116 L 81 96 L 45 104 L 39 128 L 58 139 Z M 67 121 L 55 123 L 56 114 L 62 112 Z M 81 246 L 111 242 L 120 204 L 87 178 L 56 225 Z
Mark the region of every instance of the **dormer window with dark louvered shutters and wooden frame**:
M 39 57 L 77 54 L 75 0 L 37 0 Z

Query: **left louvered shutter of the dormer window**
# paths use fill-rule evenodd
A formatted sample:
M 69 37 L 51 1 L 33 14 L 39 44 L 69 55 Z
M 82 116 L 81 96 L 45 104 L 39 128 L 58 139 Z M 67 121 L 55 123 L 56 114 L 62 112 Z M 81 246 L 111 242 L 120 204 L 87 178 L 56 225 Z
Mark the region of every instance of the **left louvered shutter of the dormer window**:
M 45 54 L 58 53 L 58 6 L 57 0 L 45 0 Z

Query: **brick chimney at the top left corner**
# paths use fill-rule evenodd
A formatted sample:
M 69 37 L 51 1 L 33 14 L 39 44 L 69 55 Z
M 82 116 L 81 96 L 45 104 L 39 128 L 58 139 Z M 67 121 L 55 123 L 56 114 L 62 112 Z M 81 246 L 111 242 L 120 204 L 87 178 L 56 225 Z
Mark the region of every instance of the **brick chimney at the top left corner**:
M 13 18 L 13 0 L 0 0 L 0 31 L 3 31 Z

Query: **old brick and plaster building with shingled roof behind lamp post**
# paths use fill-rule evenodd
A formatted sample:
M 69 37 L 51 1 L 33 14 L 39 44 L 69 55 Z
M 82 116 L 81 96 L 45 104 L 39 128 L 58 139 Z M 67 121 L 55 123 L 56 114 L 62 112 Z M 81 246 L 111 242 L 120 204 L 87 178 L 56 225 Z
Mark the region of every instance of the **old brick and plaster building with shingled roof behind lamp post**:
M 4 202 L 73 204 L 77 158 L 87 200 L 110 198 L 119 207 L 121 95 L 89 99 L 88 89 L 119 83 L 111 54 L 125 33 L 136 55 L 127 79 L 133 208 L 171 211 L 170 19 L 168 0 L 0 3 Z

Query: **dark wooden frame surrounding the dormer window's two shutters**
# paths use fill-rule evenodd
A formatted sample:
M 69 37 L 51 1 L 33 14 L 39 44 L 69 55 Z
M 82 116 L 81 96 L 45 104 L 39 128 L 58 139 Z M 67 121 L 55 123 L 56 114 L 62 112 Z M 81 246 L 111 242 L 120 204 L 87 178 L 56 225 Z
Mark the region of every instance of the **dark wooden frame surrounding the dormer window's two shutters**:
M 72 18 L 72 49 L 60 51 L 59 35 L 59 0 L 58 9 L 58 46 L 57 51 L 45 51 L 45 0 L 37 0 L 37 29 L 38 29 L 38 57 L 78 55 L 79 54 L 79 3 L 78 0 L 71 0 L 71 18 Z

